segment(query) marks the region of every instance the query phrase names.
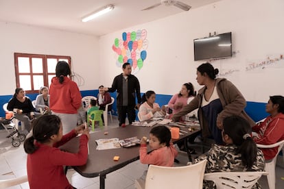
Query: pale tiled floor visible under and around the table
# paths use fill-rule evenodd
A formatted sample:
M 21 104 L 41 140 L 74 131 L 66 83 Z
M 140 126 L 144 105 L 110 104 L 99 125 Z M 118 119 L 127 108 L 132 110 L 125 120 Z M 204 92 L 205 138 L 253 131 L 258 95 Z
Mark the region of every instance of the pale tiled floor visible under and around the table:
M 108 127 L 118 127 L 118 121 L 114 117 L 113 123 L 109 123 Z M 99 129 L 97 129 L 99 130 Z M 23 144 L 20 147 L 14 148 L 10 138 L 5 138 L 7 131 L 0 130 L 0 179 L 8 179 L 12 177 L 20 177 L 26 175 L 26 153 L 23 150 Z M 200 151 L 197 147 L 196 151 Z M 282 156 L 279 156 L 282 158 Z M 184 153 L 179 153 L 178 160 L 180 164 L 186 164 L 187 156 Z M 280 159 L 281 160 L 281 159 Z M 99 160 L 98 160 L 99 161 Z M 147 165 L 141 164 L 139 160 L 132 162 L 127 166 L 106 175 L 106 189 L 134 189 L 135 179 L 141 177 L 143 172 L 147 170 Z M 276 188 L 284 188 L 284 168 L 276 166 Z M 69 170 L 67 178 L 70 183 L 76 188 L 93 189 L 99 188 L 99 177 L 86 178 L 82 177 L 73 170 Z M 262 188 L 268 188 L 266 177 L 261 177 L 259 180 Z M 29 188 L 27 183 L 20 186 L 10 187 L 10 189 Z

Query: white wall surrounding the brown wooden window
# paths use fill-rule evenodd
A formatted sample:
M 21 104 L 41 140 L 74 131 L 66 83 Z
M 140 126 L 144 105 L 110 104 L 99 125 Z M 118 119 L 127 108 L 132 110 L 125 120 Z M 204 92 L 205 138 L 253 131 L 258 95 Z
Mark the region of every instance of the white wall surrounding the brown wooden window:
M 12 95 L 16 88 L 14 53 L 70 55 L 74 80 L 80 90 L 99 86 L 98 38 L 15 23 L 0 22 L 0 95 Z

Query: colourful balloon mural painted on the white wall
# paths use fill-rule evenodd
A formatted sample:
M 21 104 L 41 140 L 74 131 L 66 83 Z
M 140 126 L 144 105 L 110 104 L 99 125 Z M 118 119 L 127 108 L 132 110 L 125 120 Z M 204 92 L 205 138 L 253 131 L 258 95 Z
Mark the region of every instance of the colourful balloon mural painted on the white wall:
M 145 29 L 123 32 L 122 39 L 115 38 L 113 51 L 117 54 L 117 66 L 121 67 L 124 62 L 129 62 L 132 66 L 132 74 L 136 74 L 143 67 L 147 57 L 148 40 Z

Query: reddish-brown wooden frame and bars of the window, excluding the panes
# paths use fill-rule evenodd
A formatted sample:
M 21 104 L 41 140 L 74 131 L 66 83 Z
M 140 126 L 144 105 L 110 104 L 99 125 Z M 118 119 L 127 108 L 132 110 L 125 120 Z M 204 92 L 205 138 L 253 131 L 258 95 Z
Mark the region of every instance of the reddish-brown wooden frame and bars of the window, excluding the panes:
M 24 58 L 29 58 L 29 73 L 19 73 L 19 62 L 18 58 L 19 57 L 24 57 Z M 42 58 L 43 59 L 43 73 L 33 73 L 32 72 L 32 58 Z M 31 53 L 14 53 L 14 68 L 15 68 L 15 76 L 16 76 L 16 88 L 21 88 L 20 86 L 20 75 L 29 75 L 31 79 L 31 90 L 25 90 L 27 94 L 31 93 L 38 93 L 38 90 L 34 90 L 34 75 L 43 75 L 43 85 L 48 86 L 48 76 L 49 75 L 56 75 L 56 72 L 54 73 L 48 73 L 47 69 L 47 59 L 53 58 L 56 59 L 56 62 L 61 59 L 66 59 L 68 60 L 68 64 L 71 69 L 71 56 L 66 56 L 66 55 L 42 55 L 42 54 L 31 54 Z

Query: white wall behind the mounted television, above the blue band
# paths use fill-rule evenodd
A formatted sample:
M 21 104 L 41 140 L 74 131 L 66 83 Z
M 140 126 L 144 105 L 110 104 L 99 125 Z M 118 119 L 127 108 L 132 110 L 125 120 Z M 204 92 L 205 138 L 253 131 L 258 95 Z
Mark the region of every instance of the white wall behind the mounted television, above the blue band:
M 220 77 L 226 77 L 239 88 L 247 101 L 266 102 L 270 95 L 284 95 L 284 60 L 246 71 L 251 62 L 262 62 L 284 53 L 283 0 L 224 0 L 202 8 L 182 12 L 158 21 L 137 25 L 99 38 L 99 62 L 104 67 L 100 81 L 110 86 L 115 75 L 115 38 L 138 29 L 147 30 L 147 58 L 137 73 L 141 91 L 155 90 L 172 95 L 183 83 L 191 81 L 196 89 L 196 68 L 205 61 L 194 62 L 193 39 L 232 31 L 233 58 L 214 60 Z M 154 11 L 154 10 L 151 10 Z M 225 74 L 228 71 L 237 70 Z

